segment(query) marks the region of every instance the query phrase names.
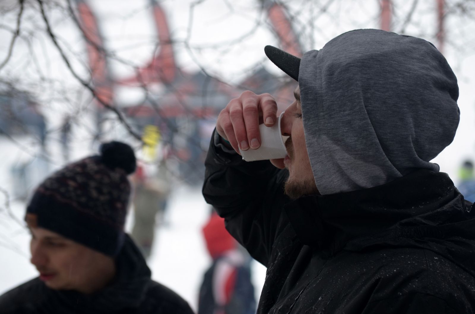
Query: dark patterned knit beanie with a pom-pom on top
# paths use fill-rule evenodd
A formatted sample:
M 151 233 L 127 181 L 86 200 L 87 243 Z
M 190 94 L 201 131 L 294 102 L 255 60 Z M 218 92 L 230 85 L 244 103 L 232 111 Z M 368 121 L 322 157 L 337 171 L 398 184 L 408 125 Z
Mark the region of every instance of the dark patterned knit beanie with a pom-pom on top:
M 133 149 L 121 142 L 101 145 L 100 156 L 69 164 L 36 189 L 25 220 L 114 257 L 122 248 L 135 171 Z

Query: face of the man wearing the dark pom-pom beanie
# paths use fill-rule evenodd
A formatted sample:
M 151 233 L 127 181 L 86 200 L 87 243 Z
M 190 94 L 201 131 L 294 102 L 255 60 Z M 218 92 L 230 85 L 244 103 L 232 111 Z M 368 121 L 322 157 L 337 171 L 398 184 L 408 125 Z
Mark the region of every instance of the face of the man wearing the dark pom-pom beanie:
M 30 227 L 31 263 L 55 290 L 93 293 L 114 277 L 114 260 L 47 229 Z

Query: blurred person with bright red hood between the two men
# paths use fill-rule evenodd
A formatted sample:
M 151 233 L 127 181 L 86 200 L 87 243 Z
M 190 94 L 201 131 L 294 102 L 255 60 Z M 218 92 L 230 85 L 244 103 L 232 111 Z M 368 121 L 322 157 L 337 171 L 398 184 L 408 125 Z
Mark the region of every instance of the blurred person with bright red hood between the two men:
M 198 314 L 256 313 L 251 257 L 214 209 L 202 231 L 212 263 L 199 289 Z

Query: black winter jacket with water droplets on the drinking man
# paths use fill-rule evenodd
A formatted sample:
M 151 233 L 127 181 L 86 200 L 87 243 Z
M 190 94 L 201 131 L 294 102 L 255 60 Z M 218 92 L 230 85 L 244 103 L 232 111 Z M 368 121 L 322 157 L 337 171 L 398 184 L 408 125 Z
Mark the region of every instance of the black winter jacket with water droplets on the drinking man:
M 288 172 L 214 146 L 203 195 L 267 267 L 257 313 L 475 313 L 475 210 L 447 174 L 283 193 Z

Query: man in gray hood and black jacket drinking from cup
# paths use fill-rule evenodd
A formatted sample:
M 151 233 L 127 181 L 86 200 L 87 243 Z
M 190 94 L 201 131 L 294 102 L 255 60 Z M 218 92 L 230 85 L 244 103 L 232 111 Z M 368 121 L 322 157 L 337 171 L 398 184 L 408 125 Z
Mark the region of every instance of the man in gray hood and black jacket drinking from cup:
M 203 186 L 267 267 L 257 313 L 475 313 L 475 207 L 430 162 L 460 114 L 444 56 L 376 29 L 302 59 L 265 53 L 298 81 L 287 156 L 239 156 L 277 122 L 271 95 L 243 92 L 218 116 Z

